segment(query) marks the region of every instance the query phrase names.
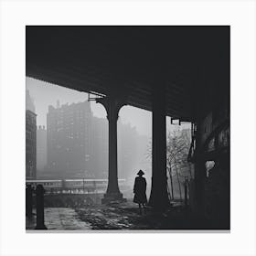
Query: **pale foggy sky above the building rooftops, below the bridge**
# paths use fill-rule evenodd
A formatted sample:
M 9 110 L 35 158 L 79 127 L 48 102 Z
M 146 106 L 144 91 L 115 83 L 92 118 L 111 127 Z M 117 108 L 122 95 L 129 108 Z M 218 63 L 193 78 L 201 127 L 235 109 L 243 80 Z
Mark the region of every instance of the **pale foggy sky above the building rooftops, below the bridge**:
M 37 126 L 47 125 L 48 106 L 57 106 L 66 103 L 77 103 L 88 100 L 88 93 L 70 90 L 45 81 L 26 77 L 26 89 L 32 97 L 37 113 Z M 96 117 L 106 118 L 106 112 L 100 103 L 91 101 L 91 112 Z M 130 123 L 141 135 L 151 136 L 152 113 L 132 106 L 123 106 L 119 112 L 122 123 Z

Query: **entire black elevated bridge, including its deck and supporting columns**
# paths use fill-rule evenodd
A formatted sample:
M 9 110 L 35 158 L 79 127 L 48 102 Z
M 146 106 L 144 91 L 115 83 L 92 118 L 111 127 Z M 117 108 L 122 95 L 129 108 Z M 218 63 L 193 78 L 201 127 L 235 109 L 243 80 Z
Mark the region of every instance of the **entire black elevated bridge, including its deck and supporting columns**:
M 195 164 L 195 209 L 202 213 L 206 161 L 224 154 L 229 166 L 229 146 L 218 146 L 229 136 L 229 27 L 28 26 L 26 34 L 28 77 L 94 94 L 107 112 L 109 177 L 103 201 L 123 199 L 117 119 L 120 109 L 131 105 L 152 112 L 153 208 L 169 204 L 165 117 L 193 123 L 189 159 Z M 222 123 L 228 132 L 219 128 Z M 216 154 L 208 154 L 209 137 L 215 138 Z

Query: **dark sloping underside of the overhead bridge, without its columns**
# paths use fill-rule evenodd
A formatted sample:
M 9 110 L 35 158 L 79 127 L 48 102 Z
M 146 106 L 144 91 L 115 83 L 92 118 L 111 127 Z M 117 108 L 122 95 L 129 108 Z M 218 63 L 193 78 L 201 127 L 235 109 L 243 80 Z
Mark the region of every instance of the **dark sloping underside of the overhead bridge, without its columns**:
M 29 26 L 26 73 L 78 91 L 121 94 L 145 110 L 152 109 L 153 89 L 165 84 L 166 114 L 193 121 L 200 91 L 223 86 L 227 29 Z

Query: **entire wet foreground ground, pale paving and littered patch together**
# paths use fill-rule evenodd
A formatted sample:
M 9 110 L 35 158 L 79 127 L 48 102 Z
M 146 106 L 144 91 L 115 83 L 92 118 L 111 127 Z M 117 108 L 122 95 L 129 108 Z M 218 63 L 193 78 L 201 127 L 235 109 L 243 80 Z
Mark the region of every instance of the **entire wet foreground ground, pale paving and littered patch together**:
M 173 205 L 165 212 L 146 208 L 140 214 L 139 208 L 132 201 L 84 208 L 45 208 L 45 224 L 49 230 L 206 229 L 202 219 L 193 217 L 180 204 Z M 27 219 L 27 229 L 34 229 L 35 226 L 35 217 Z

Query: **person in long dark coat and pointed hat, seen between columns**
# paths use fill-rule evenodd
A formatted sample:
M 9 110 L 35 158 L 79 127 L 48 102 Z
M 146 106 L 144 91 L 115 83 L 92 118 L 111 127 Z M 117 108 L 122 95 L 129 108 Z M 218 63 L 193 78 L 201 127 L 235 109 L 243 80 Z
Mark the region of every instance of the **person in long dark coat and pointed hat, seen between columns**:
M 145 210 L 145 205 L 147 203 L 146 195 L 145 195 L 145 189 L 146 189 L 146 180 L 143 177 L 144 172 L 140 170 L 137 173 L 138 176 L 135 177 L 134 187 L 133 187 L 133 193 L 134 198 L 133 202 L 139 204 L 140 214 L 142 214 L 142 206 Z

